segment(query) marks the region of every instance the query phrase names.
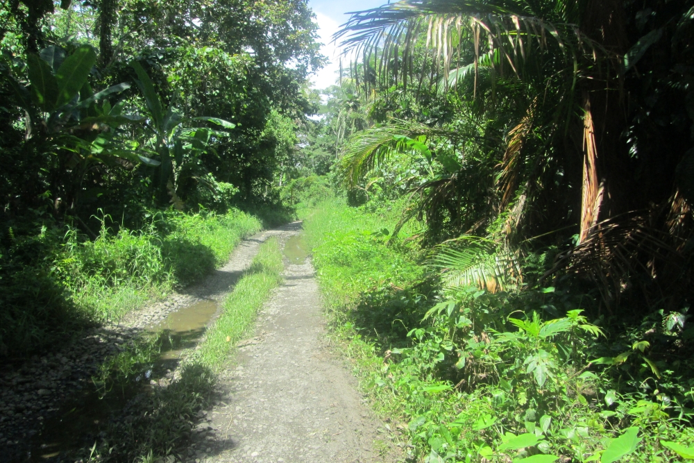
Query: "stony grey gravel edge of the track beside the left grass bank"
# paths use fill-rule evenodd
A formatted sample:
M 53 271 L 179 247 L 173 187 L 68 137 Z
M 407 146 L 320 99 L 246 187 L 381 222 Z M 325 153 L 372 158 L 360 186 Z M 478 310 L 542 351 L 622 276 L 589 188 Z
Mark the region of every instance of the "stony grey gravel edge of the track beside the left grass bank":
M 31 440 L 42 431 L 44 423 L 69 398 L 91 387 L 99 366 L 124 351 L 143 330 L 197 301 L 223 298 L 251 263 L 260 244 L 273 234 L 274 230 L 268 230 L 244 240 L 228 264 L 199 285 L 130 312 L 120 323 L 86 330 L 60 351 L 6 365 L 0 371 L 0 461 L 25 460 Z

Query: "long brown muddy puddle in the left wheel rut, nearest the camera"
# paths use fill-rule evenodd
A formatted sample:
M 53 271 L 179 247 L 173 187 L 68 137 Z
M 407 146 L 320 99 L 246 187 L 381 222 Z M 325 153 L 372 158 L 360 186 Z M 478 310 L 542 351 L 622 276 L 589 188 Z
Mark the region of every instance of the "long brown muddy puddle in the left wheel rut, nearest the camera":
M 91 448 L 109 419 L 138 394 L 151 392 L 153 384 L 176 369 L 183 351 L 195 348 L 218 309 L 217 301 L 200 301 L 172 312 L 151 328 L 151 335 L 158 338 L 160 346 L 158 358 L 141 364 L 138 374 L 108 392 L 90 382 L 90 387 L 74 394 L 56 415 L 46 420 L 40 435 L 33 439 L 28 461 L 62 462 L 66 453 Z

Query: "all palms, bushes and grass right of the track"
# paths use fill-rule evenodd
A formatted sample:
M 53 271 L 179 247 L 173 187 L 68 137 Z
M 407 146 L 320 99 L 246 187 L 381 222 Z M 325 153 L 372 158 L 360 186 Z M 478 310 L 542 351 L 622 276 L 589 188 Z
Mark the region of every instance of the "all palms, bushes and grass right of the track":
M 337 33 L 309 144 L 346 197 L 302 213 L 413 461 L 692 458 L 693 33 L 691 1 L 563 0 Z

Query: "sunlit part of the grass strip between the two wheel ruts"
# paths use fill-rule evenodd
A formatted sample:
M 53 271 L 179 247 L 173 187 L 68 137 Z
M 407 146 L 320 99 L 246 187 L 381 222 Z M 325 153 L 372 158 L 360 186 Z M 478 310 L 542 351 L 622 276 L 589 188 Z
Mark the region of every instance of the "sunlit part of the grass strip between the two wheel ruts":
M 196 360 L 218 369 L 239 340 L 253 326 L 255 317 L 273 288 L 282 278 L 282 253 L 276 238 L 260 246 L 251 267 L 223 303 L 223 314 L 208 330 Z

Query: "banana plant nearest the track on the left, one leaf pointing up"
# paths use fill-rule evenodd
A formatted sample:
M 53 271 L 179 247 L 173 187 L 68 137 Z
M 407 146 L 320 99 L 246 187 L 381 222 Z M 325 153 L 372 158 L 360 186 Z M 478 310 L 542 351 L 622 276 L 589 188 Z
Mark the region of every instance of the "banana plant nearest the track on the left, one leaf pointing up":
M 205 127 L 189 127 L 193 121 L 208 121 L 225 129 L 235 124 L 218 117 L 185 118 L 172 103 L 168 107 L 161 101 L 154 84 L 142 65 L 137 61 L 130 63 L 135 69 L 135 83 L 144 96 L 149 117 L 146 128 L 151 131 L 151 148 L 158 154 L 158 197 L 160 203 L 171 203 L 183 208 L 183 201 L 176 194 L 178 184 L 183 179 L 184 167 L 190 160 L 206 151 L 212 137 L 226 137 L 226 131 L 214 131 Z

